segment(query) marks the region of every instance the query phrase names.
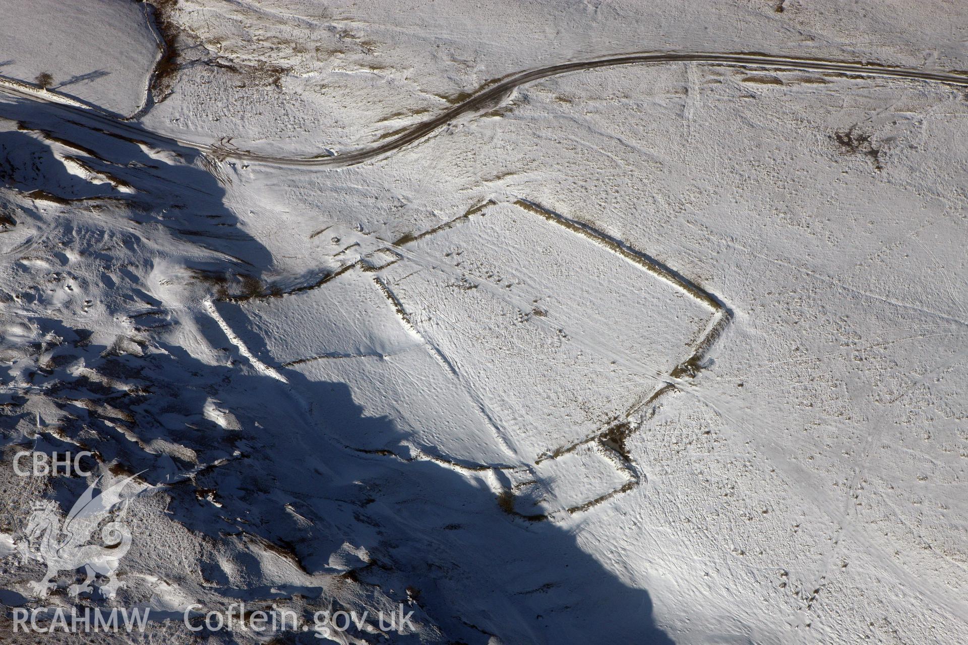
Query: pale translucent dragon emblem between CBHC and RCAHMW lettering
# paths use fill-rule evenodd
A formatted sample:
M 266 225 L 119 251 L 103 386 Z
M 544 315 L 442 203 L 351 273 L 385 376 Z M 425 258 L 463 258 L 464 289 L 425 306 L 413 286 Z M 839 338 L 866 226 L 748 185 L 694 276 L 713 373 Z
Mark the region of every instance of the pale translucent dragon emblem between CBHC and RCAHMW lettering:
M 100 585 L 101 593 L 111 598 L 123 583 L 119 582 L 113 572 L 118 568 L 118 561 L 131 548 L 131 531 L 120 520 L 127 511 L 130 498 L 122 497 L 121 491 L 136 475 L 110 486 L 100 495 L 95 496 L 98 478 L 87 487 L 87 490 L 76 501 L 61 525 L 55 505 L 49 501 L 34 502 L 31 505 L 30 518 L 24 531 L 25 540 L 20 542 L 19 550 L 22 562 L 29 559 L 40 560 L 45 563 L 47 571 L 40 580 L 31 581 L 30 587 L 40 598 L 57 587 L 54 578 L 58 572 L 75 571 L 84 568 L 85 580 L 80 584 L 68 587 L 68 594 L 76 598 L 82 593 L 92 593 L 95 575 L 109 577 L 109 581 Z M 113 513 L 114 507 L 121 504 L 119 513 Z M 91 542 L 99 525 L 101 526 L 101 540 L 103 544 Z

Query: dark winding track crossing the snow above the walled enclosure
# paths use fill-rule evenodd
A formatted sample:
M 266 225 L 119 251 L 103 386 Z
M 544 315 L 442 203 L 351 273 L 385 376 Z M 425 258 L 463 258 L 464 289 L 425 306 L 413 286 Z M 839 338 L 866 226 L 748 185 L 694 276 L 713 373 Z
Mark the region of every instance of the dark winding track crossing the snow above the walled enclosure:
M 431 132 L 436 131 L 441 126 L 453 121 L 454 119 L 468 113 L 490 108 L 500 102 L 500 100 L 513 91 L 515 88 L 527 83 L 556 76 L 569 72 L 580 72 L 582 70 L 593 70 L 597 68 L 614 67 L 619 65 L 638 65 L 638 64 L 659 64 L 659 63 L 704 63 L 709 65 L 728 65 L 743 68 L 769 68 L 779 70 L 795 70 L 801 72 L 814 73 L 840 73 L 858 76 L 879 76 L 891 78 L 909 78 L 913 80 L 923 80 L 937 83 L 947 83 L 968 87 L 968 74 L 966 73 L 945 73 L 927 72 L 924 70 L 911 70 L 904 68 L 885 67 L 868 63 L 847 63 L 838 61 L 826 61 L 818 59 L 799 59 L 771 56 L 761 53 L 644 53 L 627 54 L 609 58 L 598 58 L 590 61 L 576 61 L 572 63 L 562 63 L 549 67 L 538 68 L 528 72 L 516 73 L 504 77 L 499 82 L 482 89 L 471 96 L 463 103 L 459 103 L 448 110 L 433 116 L 422 123 L 409 127 L 406 131 L 387 140 L 384 143 L 374 145 L 369 148 L 353 150 L 345 154 L 335 156 L 317 155 L 313 157 L 280 157 L 276 155 L 265 155 L 248 150 L 228 148 L 226 146 L 214 144 L 197 143 L 176 139 L 177 142 L 189 148 L 195 148 L 201 152 L 211 154 L 221 158 L 231 158 L 242 161 L 264 161 L 277 165 L 291 166 L 348 166 L 364 161 L 378 159 L 384 155 L 400 150 L 414 141 L 417 141 Z M 83 114 L 87 119 L 93 119 L 99 126 L 107 132 L 130 136 L 140 140 L 145 138 L 155 138 L 149 136 L 141 128 L 131 125 L 124 118 L 110 114 L 93 105 L 81 105 L 76 101 L 61 98 L 55 93 L 37 90 L 25 83 L 6 81 L 0 83 L 0 91 L 8 94 L 15 94 L 32 101 L 53 103 L 58 106 L 71 110 L 78 114 Z M 170 142 L 168 137 L 158 136 L 156 142 Z M 164 144 L 163 144 L 164 145 Z

